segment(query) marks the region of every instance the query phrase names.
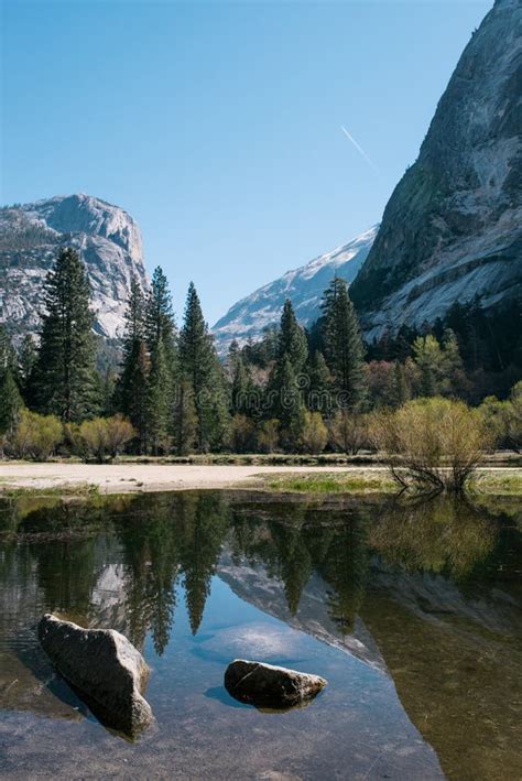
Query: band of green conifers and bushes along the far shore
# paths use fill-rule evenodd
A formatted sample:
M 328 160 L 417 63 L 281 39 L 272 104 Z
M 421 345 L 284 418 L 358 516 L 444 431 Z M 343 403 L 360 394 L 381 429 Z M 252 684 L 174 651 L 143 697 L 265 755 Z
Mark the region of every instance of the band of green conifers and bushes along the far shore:
M 477 302 L 455 305 L 434 326 L 365 345 L 348 285 L 334 278 L 308 330 L 287 300 L 279 325 L 258 343 L 233 341 L 221 362 L 194 284 L 177 327 L 156 268 L 149 290 L 132 280 L 117 368 L 100 371 L 93 325 L 80 258 L 62 249 L 46 280 L 37 344 L 26 336 L 17 351 L 0 332 L 6 455 L 357 453 L 370 445 L 372 411 L 435 395 L 474 404 L 488 397 L 482 408 L 499 443 L 521 446 L 516 350 L 509 366 L 490 368 L 483 334 L 492 326 Z M 501 362 L 498 345 L 493 351 Z M 491 387 L 505 400 L 488 395 Z

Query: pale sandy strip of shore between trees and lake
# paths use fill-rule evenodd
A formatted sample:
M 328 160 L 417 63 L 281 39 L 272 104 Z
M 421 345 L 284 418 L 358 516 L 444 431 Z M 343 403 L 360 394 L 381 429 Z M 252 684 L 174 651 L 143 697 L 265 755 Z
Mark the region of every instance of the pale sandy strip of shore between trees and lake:
M 369 467 L 372 471 L 380 467 Z M 365 467 L 363 471 L 367 471 Z M 96 486 L 101 493 L 175 491 L 189 488 L 254 486 L 254 476 L 291 473 L 361 473 L 361 467 L 204 466 L 191 464 L 29 464 L 0 463 L 0 491 L 7 488 L 58 489 Z

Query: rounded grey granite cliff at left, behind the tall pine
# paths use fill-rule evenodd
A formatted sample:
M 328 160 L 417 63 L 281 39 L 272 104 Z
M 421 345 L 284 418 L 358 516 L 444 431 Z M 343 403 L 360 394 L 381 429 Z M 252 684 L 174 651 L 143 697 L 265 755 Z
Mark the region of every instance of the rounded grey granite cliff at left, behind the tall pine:
M 89 195 L 0 209 L 0 322 L 15 336 L 37 330 L 44 280 L 64 246 L 85 263 L 97 333 L 119 336 L 131 275 L 146 284 L 140 230 L 127 211 Z

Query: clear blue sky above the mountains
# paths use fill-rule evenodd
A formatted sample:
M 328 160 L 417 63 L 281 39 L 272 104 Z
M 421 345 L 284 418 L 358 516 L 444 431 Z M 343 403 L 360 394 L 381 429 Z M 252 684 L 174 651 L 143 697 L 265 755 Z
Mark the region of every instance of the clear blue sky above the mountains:
M 0 199 L 122 206 L 213 324 L 380 219 L 491 6 L 3 0 Z

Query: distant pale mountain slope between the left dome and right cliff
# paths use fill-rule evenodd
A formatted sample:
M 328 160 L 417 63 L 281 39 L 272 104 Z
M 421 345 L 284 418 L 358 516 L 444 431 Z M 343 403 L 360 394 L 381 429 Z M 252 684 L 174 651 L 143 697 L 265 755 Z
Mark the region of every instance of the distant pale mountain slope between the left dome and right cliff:
M 260 288 L 233 304 L 213 328 L 220 354 L 230 343 L 244 344 L 263 335 L 263 328 L 279 323 L 283 304 L 291 299 L 303 325 L 313 323 L 320 314 L 319 304 L 325 289 L 337 274 L 352 282 L 373 243 L 379 226 L 357 236 L 342 247 L 315 258 L 306 265 L 287 271 L 283 276 Z

